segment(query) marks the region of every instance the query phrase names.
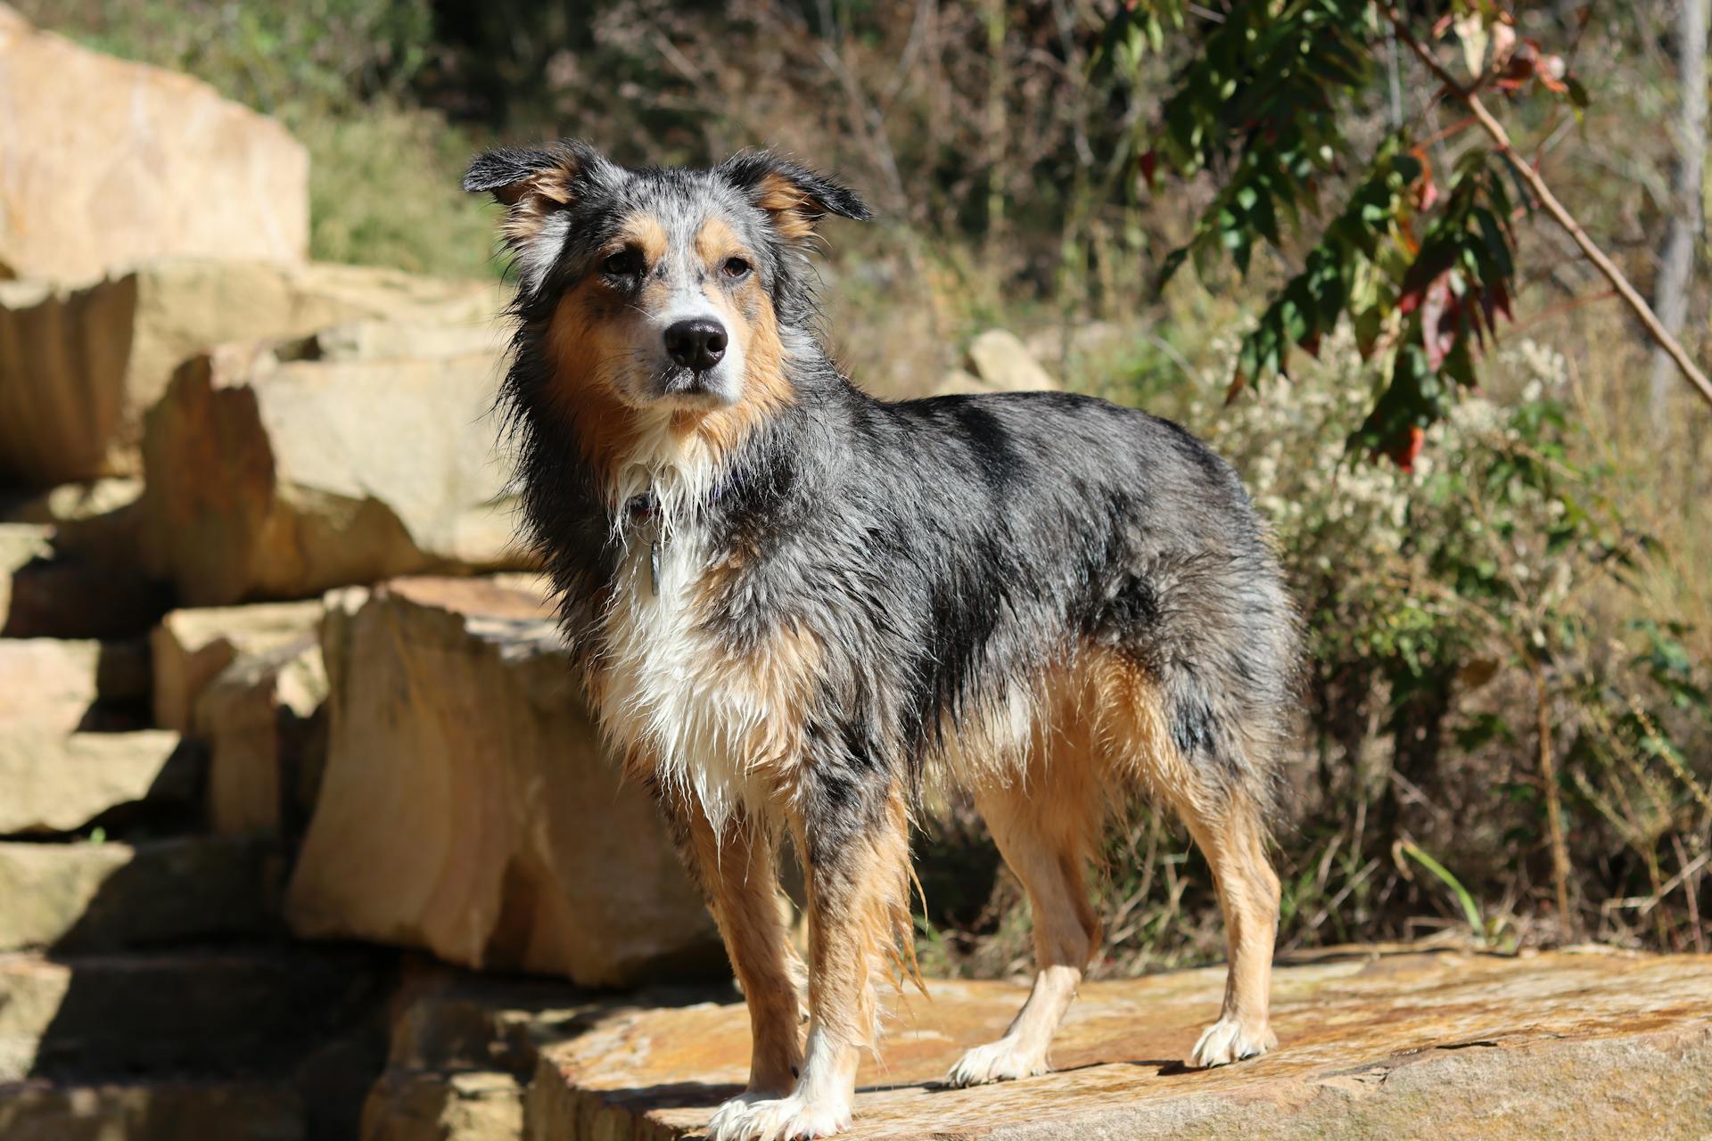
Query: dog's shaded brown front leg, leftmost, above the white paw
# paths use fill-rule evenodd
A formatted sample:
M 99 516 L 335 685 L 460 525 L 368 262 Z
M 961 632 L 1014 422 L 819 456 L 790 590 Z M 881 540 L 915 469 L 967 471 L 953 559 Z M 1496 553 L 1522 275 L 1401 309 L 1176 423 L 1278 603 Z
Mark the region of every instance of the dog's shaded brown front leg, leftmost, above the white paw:
M 748 1002 L 753 1045 L 745 1097 L 782 1097 L 803 1062 L 803 965 L 791 951 L 776 842 L 762 826 L 741 819 L 716 835 L 700 806 L 678 804 L 668 814 Z

